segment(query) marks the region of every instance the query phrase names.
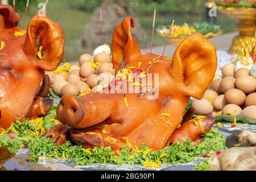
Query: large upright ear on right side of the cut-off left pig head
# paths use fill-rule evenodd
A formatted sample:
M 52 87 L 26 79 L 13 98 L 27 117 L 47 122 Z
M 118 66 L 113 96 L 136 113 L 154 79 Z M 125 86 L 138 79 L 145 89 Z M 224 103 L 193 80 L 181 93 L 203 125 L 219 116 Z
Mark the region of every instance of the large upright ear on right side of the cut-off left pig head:
M 64 34 L 61 26 L 47 16 L 36 15 L 27 28 L 25 53 L 35 58 L 37 67 L 53 71 L 60 64 L 64 55 Z M 42 57 L 38 52 L 42 48 Z

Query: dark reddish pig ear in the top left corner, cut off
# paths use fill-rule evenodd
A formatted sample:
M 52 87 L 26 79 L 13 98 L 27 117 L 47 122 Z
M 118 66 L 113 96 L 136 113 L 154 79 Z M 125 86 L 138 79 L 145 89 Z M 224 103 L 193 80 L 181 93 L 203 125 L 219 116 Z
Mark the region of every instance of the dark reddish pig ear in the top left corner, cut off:
M 13 27 L 13 22 L 17 26 L 19 15 L 15 13 L 15 17 L 13 18 L 13 11 L 13 7 L 9 5 L 0 6 L 0 30 Z

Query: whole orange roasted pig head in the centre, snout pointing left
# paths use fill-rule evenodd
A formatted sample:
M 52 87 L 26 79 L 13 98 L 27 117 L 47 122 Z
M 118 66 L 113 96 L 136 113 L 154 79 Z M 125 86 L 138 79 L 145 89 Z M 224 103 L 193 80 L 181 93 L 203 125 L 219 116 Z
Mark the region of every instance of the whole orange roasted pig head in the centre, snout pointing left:
M 127 137 L 135 146 L 144 142 L 160 150 L 170 144 L 172 133 L 182 121 L 188 98 L 201 99 L 213 80 L 217 68 L 216 49 L 203 35 L 188 36 L 171 59 L 143 54 L 131 34 L 131 27 L 134 27 L 134 20 L 128 17 L 115 28 L 112 42 L 115 73 L 120 73 L 121 61 L 134 77 L 142 78 L 151 73 L 152 89 L 159 95 L 152 99 L 152 93 L 130 93 L 124 89 L 125 96 L 123 93 L 95 93 L 79 98 L 63 96 L 57 109 L 60 121 L 77 133 L 80 129 L 85 129 L 82 133 L 94 131 L 93 135 L 73 137 L 79 144 L 111 146 L 117 143 L 113 138 Z M 123 69 L 123 74 L 127 69 Z M 124 81 L 133 84 L 134 79 Z

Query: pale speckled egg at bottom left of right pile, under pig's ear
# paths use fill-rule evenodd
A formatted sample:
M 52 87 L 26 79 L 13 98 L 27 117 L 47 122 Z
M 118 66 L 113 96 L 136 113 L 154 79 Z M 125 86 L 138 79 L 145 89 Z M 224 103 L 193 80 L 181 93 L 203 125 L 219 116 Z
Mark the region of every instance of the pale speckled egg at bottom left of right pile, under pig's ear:
M 202 115 L 208 115 L 213 111 L 212 104 L 210 104 L 210 102 L 205 98 L 202 98 L 201 100 L 197 100 L 197 99 L 193 100 L 192 107 L 195 107 L 196 113 L 199 113 Z

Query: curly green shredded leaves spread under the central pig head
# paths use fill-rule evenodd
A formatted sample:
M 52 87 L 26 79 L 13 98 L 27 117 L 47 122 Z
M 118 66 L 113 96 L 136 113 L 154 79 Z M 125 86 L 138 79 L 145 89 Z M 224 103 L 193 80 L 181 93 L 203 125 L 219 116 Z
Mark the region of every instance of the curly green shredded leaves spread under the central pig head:
M 220 134 L 218 129 L 212 129 L 205 135 L 204 142 L 194 146 L 192 142 L 175 142 L 170 147 L 160 151 L 150 151 L 145 155 L 144 151 L 148 147 L 143 144 L 140 152 L 129 150 L 123 146 L 122 150 L 113 152 L 110 147 L 94 147 L 85 149 L 81 146 L 72 146 L 68 141 L 62 146 L 55 146 L 49 138 L 37 138 L 29 144 L 31 158 L 33 163 L 39 159 L 59 159 L 69 160 L 69 162 L 77 166 L 85 166 L 87 164 L 96 163 L 112 163 L 112 164 L 143 164 L 147 159 L 153 163 L 162 164 L 179 164 L 192 162 L 195 159 L 203 157 L 203 155 L 213 155 L 214 152 L 225 148 L 225 137 Z

